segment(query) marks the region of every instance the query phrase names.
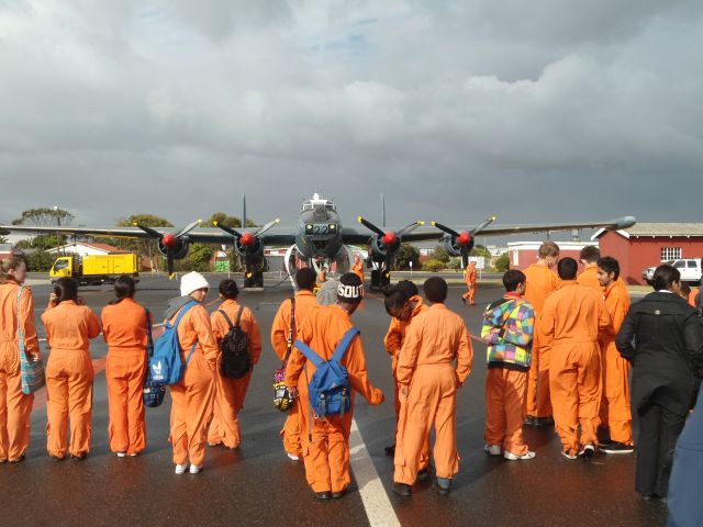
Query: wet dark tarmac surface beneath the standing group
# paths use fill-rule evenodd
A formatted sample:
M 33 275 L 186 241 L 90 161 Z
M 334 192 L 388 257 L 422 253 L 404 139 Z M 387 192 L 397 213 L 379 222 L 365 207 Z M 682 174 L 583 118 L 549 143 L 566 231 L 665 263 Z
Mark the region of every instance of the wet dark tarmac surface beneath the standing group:
M 419 277 L 415 277 L 419 278 Z M 219 276 L 210 276 L 216 290 Z M 278 280 L 268 279 L 269 284 Z M 48 284 L 34 291 L 40 337 L 40 314 Z M 479 283 L 470 307 L 460 302 L 464 288 L 451 288 L 447 305 L 459 312 L 473 336 L 479 335 L 481 305 L 500 298 L 496 283 Z M 81 296 L 97 313 L 112 299 L 112 289 L 81 288 Z M 177 296 L 177 282 L 143 277 L 136 300 L 160 317 L 166 301 Z M 370 407 L 357 397 L 355 421 L 362 442 L 353 450 L 353 468 L 368 461 L 361 486 L 356 474 L 342 500 L 317 502 L 308 487 L 301 462 L 290 461 L 279 430 L 284 415 L 271 404 L 271 377 L 279 367 L 268 334 L 279 303 L 291 294 L 289 283 L 243 292 L 239 300 L 254 310 L 263 329 L 264 350 L 239 414 L 243 442 L 238 450 L 208 447 L 204 470 L 197 475 L 174 474 L 168 444 L 170 397 L 158 408 L 146 408 L 146 451 L 136 458 L 116 458 L 108 446 L 108 407 L 104 378 L 107 347 L 101 337 L 91 344 L 99 373 L 94 380 L 92 444 L 86 460 L 49 459 L 45 450 L 45 391 L 36 394 L 32 415 L 32 444 L 22 463 L 0 466 L 0 525 L 403 525 L 403 526 L 660 526 L 667 508 L 644 502 L 634 490 L 635 456 L 596 456 L 591 461 L 568 461 L 553 428 L 525 428 L 537 457 L 505 461 L 483 452 L 483 382 L 486 347 L 473 340 L 471 375 L 458 395 L 457 430 L 460 472 L 449 496 L 439 496 L 432 482 L 420 483 L 412 497 L 399 497 L 392 487 L 392 458 L 383 447 L 393 440 L 393 390 L 390 359 L 382 346 L 389 317 L 381 302 L 369 294 L 354 315 L 361 330 L 371 382 L 381 388 L 386 403 Z M 207 302 L 214 300 L 211 290 Z M 216 305 L 216 304 L 215 304 Z M 215 305 L 210 306 L 214 310 Z M 45 360 L 46 345 L 42 345 Z M 370 474 L 370 475 L 369 475 Z M 380 480 L 380 482 L 379 482 Z M 368 492 L 372 483 L 379 491 Z M 386 495 L 380 489 L 384 490 Z M 370 495 L 370 497 L 369 497 Z M 365 501 L 370 502 L 365 503 Z

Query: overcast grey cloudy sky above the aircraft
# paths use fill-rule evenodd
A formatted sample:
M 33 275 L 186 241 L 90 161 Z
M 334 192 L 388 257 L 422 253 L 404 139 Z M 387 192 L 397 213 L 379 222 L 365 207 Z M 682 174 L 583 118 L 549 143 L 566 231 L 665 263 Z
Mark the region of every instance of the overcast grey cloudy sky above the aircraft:
M 703 2 L 0 0 L 0 223 L 702 221 Z

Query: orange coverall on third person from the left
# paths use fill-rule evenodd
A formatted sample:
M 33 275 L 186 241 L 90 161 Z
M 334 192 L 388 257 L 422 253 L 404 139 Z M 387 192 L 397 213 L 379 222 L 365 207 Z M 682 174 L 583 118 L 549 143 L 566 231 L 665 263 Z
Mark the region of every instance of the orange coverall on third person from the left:
M 108 343 L 105 378 L 110 449 L 140 453 L 146 448 L 144 377 L 146 375 L 146 310 L 123 299 L 102 310 L 102 336 Z M 148 321 L 152 325 L 152 318 Z

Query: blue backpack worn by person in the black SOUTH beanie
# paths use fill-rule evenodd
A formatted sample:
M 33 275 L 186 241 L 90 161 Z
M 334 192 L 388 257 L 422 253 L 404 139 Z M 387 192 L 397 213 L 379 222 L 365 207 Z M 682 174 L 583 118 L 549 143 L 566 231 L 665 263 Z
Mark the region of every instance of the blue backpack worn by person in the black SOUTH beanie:
M 295 340 L 295 347 L 315 365 L 310 379 L 310 406 L 321 418 L 326 415 L 344 415 L 352 407 L 352 388 L 347 369 L 339 362 L 347 351 L 352 339 L 359 330 L 352 327 L 344 334 L 330 360 L 322 360 L 308 345 Z

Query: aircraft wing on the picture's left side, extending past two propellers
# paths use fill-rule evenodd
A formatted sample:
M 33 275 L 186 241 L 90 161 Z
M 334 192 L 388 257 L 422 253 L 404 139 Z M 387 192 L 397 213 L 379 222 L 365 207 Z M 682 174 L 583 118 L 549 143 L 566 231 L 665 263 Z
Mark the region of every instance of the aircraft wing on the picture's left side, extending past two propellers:
M 160 234 L 168 234 L 175 231 L 174 227 L 153 227 Z M 153 238 L 138 227 L 72 227 L 72 226 L 51 226 L 36 227 L 27 225 L 0 225 L 0 231 L 10 231 L 13 233 L 27 233 L 33 235 L 40 234 L 64 234 L 67 236 L 102 236 L 111 238 Z M 281 232 L 283 231 L 283 232 Z M 232 236 L 220 231 L 219 228 L 198 228 L 188 233 L 190 242 L 201 244 L 232 244 Z M 277 228 L 276 233 L 264 234 L 259 237 L 264 245 L 292 245 L 295 243 L 295 233 L 293 229 Z

